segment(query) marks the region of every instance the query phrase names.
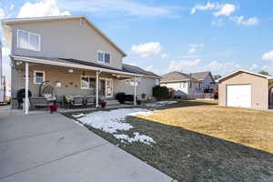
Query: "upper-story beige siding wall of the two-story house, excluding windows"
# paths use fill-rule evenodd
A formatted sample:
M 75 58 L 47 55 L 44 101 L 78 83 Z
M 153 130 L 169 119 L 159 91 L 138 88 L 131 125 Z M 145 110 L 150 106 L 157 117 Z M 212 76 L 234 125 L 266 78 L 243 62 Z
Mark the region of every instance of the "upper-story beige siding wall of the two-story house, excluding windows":
M 107 66 L 122 68 L 122 53 L 91 25 L 81 26 L 80 19 L 24 23 L 11 26 L 13 28 L 13 55 L 75 58 L 96 62 L 97 51 L 100 50 L 111 54 L 111 63 Z M 16 45 L 17 29 L 41 35 L 41 51 L 18 48 Z

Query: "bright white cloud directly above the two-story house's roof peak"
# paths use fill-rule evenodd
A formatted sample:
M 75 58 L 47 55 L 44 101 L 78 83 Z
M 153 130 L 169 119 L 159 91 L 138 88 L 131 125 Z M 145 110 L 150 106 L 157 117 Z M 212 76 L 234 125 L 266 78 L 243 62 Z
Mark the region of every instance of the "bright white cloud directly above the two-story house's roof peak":
M 68 11 L 60 11 L 56 0 L 43 0 L 36 3 L 26 2 L 20 8 L 17 17 L 38 17 L 50 15 L 70 15 Z

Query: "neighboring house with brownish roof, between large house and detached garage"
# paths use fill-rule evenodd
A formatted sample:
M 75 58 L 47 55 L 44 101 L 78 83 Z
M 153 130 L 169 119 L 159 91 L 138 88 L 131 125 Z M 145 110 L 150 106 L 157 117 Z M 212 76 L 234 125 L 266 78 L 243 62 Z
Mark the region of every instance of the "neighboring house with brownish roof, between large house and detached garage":
M 171 72 L 161 76 L 160 86 L 167 86 L 174 90 L 174 96 L 196 98 L 205 92 L 216 88 L 215 81 L 210 72 L 185 74 Z

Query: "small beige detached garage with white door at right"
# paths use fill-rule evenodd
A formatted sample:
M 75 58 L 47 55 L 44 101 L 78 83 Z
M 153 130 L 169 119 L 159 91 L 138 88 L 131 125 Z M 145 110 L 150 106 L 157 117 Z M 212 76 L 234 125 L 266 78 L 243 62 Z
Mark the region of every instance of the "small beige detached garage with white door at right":
M 238 70 L 217 80 L 219 106 L 268 109 L 268 80 L 246 70 Z

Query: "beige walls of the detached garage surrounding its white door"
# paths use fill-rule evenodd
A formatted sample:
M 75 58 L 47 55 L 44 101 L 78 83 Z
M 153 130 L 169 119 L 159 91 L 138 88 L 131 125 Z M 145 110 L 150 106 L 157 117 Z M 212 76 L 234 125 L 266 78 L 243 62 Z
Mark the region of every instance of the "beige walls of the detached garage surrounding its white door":
M 227 86 L 251 85 L 251 108 L 268 109 L 268 80 L 261 76 L 255 76 L 240 72 L 219 82 L 219 106 L 227 106 Z

